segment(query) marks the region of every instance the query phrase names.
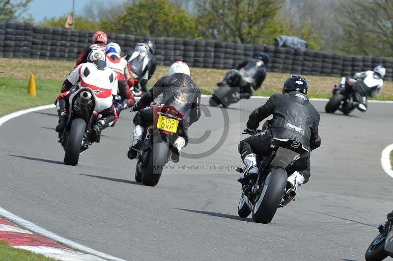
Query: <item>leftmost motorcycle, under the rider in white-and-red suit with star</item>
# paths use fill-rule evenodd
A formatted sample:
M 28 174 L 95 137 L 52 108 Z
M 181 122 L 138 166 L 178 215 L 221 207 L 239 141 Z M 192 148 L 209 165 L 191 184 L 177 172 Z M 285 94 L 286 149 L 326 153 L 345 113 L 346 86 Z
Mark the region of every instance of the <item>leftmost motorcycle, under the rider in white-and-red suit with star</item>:
M 96 112 L 98 106 L 94 91 L 82 87 L 69 98 L 69 115 L 64 132 L 59 142 L 64 148 L 64 163 L 78 165 L 79 155 L 94 142 L 93 126 L 101 115 Z

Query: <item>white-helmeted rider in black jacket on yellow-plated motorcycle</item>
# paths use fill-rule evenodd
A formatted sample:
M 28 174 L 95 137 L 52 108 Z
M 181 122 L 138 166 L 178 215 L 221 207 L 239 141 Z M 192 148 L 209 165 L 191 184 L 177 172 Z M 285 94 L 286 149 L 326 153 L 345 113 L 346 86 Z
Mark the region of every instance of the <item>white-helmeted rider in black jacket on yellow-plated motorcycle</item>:
M 190 77 L 187 63 L 178 61 L 170 66 L 168 76 L 159 79 L 140 101 L 132 106 L 132 110 L 139 112 L 134 117 L 133 141 L 127 153 L 130 159 L 137 157 L 144 127 L 147 123 L 153 122 L 154 105 L 148 105 L 160 94 L 163 94 L 162 105 L 171 105 L 183 114 L 181 126 L 179 125 L 179 137 L 173 143 L 175 153 L 179 155 L 188 143 L 188 127 L 200 117 L 200 90 Z

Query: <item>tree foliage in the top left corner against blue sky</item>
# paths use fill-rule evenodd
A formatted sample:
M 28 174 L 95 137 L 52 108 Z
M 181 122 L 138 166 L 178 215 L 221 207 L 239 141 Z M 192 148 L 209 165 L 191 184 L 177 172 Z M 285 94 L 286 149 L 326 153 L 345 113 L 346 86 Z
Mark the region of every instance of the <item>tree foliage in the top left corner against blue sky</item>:
M 32 0 L 0 0 L 0 21 L 19 21 Z

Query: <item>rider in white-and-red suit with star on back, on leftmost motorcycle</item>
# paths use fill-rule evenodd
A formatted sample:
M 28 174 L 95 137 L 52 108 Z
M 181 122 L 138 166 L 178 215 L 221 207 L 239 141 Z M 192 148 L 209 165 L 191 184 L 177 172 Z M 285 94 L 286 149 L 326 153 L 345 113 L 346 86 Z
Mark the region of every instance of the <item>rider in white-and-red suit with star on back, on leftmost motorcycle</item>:
M 117 112 L 113 105 L 113 95 L 117 94 L 116 74 L 106 62 L 105 52 L 93 50 L 87 56 L 87 63 L 80 64 L 64 80 L 61 94 L 57 97 L 56 107 L 59 116 L 56 131 L 59 136 L 63 133 L 67 124 L 69 112 L 69 97 L 81 88 L 88 87 L 94 90 L 97 100 L 97 112 L 102 118 L 94 125 L 94 140 L 100 142 L 101 130 L 112 126 L 117 121 Z M 75 89 L 73 89 L 73 87 Z

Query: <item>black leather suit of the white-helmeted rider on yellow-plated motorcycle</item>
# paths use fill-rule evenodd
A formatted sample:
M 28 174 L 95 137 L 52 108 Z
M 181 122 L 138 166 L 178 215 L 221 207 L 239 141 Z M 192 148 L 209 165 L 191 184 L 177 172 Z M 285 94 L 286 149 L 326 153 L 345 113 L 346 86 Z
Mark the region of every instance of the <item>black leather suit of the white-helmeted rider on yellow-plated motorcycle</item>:
M 188 127 L 200 117 L 200 90 L 197 84 L 186 74 L 173 74 L 159 79 L 137 103 L 143 108 L 156 99 L 160 94 L 161 104 L 172 105 L 183 114 L 178 134 L 188 142 Z M 153 106 L 141 109 L 134 117 L 134 124 L 145 127 L 153 122 Z

